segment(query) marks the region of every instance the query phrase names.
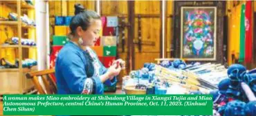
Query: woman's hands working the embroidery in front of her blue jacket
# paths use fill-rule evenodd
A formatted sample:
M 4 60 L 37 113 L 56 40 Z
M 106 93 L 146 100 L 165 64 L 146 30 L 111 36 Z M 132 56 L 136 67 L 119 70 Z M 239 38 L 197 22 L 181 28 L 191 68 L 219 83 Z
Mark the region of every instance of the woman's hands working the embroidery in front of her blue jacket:
M 109 79 L 112 80 L 114 76 L 118 76 L 120 71 L 121 71 L 121 67 L 120 67 L 119 63 L 111 65 L 109 67 L 109 69 L 107 70 Z

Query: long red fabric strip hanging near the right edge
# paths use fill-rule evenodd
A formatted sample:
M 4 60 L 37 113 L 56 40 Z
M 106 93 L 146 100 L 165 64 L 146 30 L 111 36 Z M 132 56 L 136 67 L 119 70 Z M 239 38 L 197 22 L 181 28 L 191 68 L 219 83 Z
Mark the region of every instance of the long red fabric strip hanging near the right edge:
M 253 34 L 252 34 L 252 1 L 246 1 L 246 55 L 245 61 L 252 62 Z

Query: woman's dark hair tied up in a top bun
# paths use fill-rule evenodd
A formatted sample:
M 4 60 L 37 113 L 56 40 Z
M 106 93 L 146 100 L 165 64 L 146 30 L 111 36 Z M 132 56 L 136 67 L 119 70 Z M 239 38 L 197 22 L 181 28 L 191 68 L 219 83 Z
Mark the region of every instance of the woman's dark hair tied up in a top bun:
M 69 25 L 71 34 L 75 35 L 75 30 L 79 26 L 82 27 L 82 30 L 87 30 L 91 24 L 91 19 L 100 19 L 100 16 L 92 10 L 85 10 L 80 3 L 75 4 L 75 16 Z

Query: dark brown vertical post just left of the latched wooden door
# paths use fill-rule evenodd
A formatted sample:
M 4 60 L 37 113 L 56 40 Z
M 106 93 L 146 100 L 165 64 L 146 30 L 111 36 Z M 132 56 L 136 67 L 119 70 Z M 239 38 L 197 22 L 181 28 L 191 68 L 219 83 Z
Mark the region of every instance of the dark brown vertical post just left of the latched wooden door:
M 134 49 L 134 23 L 135 23 L 135 14 L 134 14 L 134 2 L 135 1 L 127 1 L 128 2 L 128 69 L 129 71 L 134 69 L 134 56 L 135 56 L 135 49 Z M 129 72 L 127 71 L 127 72 Z

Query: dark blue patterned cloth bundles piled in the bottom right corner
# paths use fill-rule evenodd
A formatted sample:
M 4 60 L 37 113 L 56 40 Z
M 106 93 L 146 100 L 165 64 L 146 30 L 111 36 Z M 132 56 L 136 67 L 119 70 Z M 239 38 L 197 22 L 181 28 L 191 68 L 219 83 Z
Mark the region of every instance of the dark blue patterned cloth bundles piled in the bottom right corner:
M 214 110 L 223 116 L 256 115 L 256 69 L 246 70 L 243 65 L 228 67 L 228 78 L 211 91 Z

